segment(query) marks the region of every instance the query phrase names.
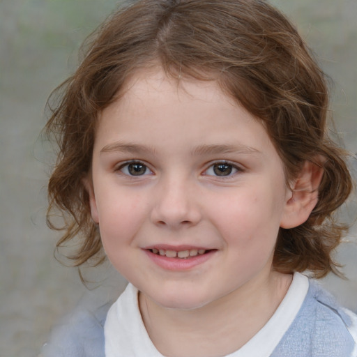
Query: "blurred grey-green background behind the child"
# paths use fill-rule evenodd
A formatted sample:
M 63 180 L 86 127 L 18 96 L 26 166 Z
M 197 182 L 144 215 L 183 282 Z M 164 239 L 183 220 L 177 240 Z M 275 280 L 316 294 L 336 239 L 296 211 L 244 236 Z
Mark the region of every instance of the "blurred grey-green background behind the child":
M 345 146 L 357 152 L 357 1 L 274 0 L 298 26 L 333 78 L 333 110 Z M 45 225 L 54 158 L 42 137 L 50 92 L 77 64 L 82 40 L 118 6 L 114 0 L 0 0 L 0 356 L 37 356 L 51 326 L 79 299 L 104 301 L 123 289 L 105 264 L 88 272 L 53 257 L 58 235 Z M 354 163 L 356 171 L 356 163 Z M 354 199 L 354 200 L 353 200 Z M 356 194 L 344 210 L 356 217 Z M 337 252 L 349 280 L 326 287 L 357 310 L 356 225 Z M 98 287 L 98 288 L 96 288 Z M 96 289 L 94 289 L 96 288 Z

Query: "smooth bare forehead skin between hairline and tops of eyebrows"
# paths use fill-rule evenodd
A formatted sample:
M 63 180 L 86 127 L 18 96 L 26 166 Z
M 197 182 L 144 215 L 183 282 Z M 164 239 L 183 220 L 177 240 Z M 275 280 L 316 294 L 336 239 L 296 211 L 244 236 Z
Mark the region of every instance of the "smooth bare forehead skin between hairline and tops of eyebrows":
M 199 119 L 205 119 L 198 126 L 204 132 L 215 125 L 222 128 L 223 121 L 227 127 L 227 119 L 234 115 L 241 120 L 257 121 L 222 91 L 218 81 L 168 77 L 164 70 L 155 67 L 139 70 L 130 77 L 117 99 L 100 113 L 99 126 L 116 121 L 121 122 L 122 128 L 131 123 L 132 129 L 138 131 L 144 127 L 150 130 L 158 121 L 162 126 L 196 122 L 197 127 Z

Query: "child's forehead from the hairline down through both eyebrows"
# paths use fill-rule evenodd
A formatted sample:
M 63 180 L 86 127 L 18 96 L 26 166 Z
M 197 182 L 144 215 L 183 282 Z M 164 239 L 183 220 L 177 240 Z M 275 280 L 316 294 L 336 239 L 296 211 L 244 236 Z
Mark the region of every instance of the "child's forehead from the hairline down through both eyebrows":
M 261 122 L 218 82 L 170 79 L 162 70 L 136 73 L 102 112 L 97 129 L 95 146 L 104 151 L 276 154 Z

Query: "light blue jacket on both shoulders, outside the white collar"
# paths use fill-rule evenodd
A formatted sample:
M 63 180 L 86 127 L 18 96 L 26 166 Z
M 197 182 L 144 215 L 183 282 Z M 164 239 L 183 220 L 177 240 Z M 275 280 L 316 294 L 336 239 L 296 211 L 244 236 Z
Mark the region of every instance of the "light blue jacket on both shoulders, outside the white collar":
M 66 324 L 54 328 L 40 356 L 105 357 L 103 328 L 112 303 L 96 312 L 75 310 Z M 301 310 L 271 357 L 351 357 L 355 348 L 349 332 L 352 324 L 333 297 L 310 281 Z

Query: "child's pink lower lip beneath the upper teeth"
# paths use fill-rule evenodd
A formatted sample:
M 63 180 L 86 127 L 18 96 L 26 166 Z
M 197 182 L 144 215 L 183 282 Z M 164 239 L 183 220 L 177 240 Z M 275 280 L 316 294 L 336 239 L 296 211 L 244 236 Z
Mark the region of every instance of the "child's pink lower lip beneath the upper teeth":
M 195 266 L 203 264 L 204 262 L 211 259 L 217 250 L 210 250 L 202 255 L 196 255 L 195 257 L 188 258 L 169 258 L 165 255 L 158 255 L 151 250 L 144 250 L 146 255 L 158 266 L 164 268 L 168 271 L 188 271 Z

